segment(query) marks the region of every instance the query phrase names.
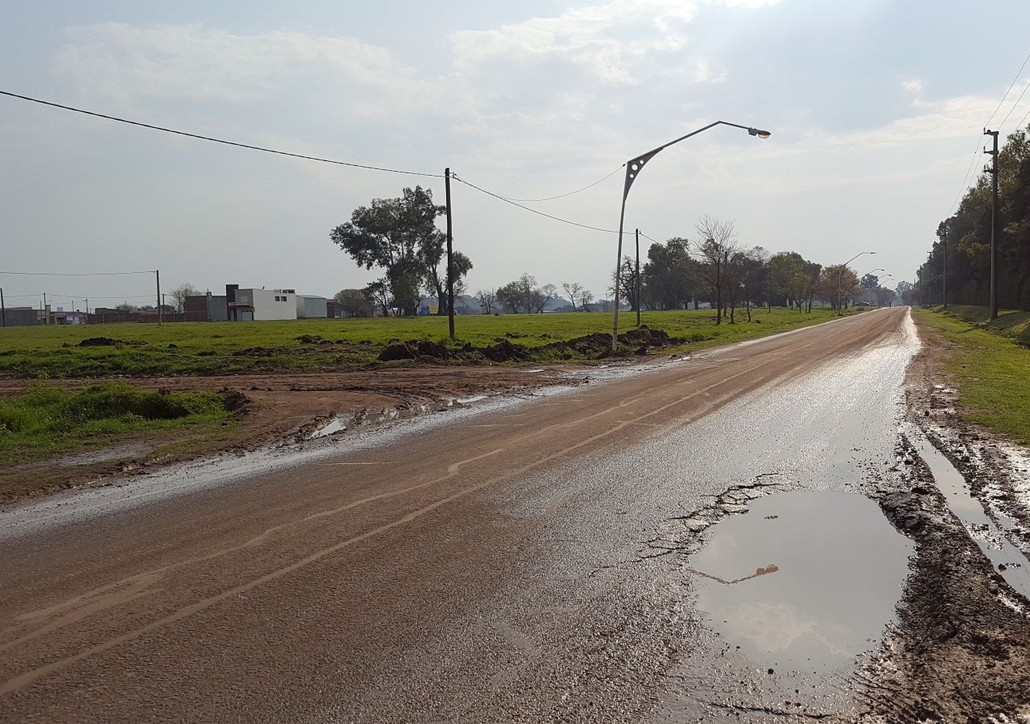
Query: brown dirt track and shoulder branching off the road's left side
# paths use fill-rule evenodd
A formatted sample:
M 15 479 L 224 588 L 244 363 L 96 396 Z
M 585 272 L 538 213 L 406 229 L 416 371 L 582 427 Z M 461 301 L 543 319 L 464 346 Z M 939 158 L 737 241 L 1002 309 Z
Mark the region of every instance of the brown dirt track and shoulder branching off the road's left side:
M 124 435 L 109 444 L 0 472 L 0 505 L 60 489 L 106 485 L 121 476 L 202 455 L 243 452 L 304 439 L 337 416 L 418 412 L 434 403 L 502 393 L 531 393 L 553 384 L 577 384 L 585 368 L 426 366 L 347 372 L 131 378 L 144 388 L 170 391 L 234 390 L 249 401 L 231 422 L 173 432 Z M 81 380 L 71 385 L 100 380 Z M 122 381 L 125 381 L 123 378 Z M 0 395 L 16 394 L 26 380 L 0 379 Z M 370 419 L 375 415 L 369 415 Z

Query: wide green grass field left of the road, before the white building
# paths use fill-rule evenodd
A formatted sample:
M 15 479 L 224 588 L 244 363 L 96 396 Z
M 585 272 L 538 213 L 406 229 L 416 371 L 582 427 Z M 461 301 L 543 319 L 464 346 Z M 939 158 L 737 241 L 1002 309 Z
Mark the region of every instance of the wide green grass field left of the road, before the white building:
M 816 308 L 804 314 L 776 308 L 753 312 L 751 322 L 717 325 L 711 310 L 696 310 L 644 312 L 642 322 L 687 340 L 683 348 L 699 349 L 806 326 L 833 316 L 829 309 Z M 739 315 L 739 319 L 744 317 Z M 620 320 L 622 331 L 626 331 L 633 326 L 636 315 L 623 313 Z M 376 363 L 379 352 L 394 338 L 482 347 L 507 336 L 513 343 L 540 347 L 611 330 L 612 315 L 597 313 L 459 316 L 453 343 L 447 337 L 447 318 L 437 316 L 6 327 L 0 329 L 0 375 L 81 378 L 346 369 Z M 298 339 L 304 335 L 321 339 L 304 343 Z M 125 344 L 77 346 L 96 337 Z M 329 342 L 319 344 L 322 340 Z M 539 360 L 556 361 L 543 355 Z

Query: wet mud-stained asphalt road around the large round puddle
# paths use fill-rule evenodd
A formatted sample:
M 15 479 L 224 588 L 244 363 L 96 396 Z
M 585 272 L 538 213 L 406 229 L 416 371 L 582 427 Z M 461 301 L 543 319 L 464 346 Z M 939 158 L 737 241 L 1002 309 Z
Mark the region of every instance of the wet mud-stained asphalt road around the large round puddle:
M 872 311 L 2 514 L 0 720 L 850 711 L 860 651 L 802 671 L 782 641 L 719 630 L 690 556 L 760 494 L 844 494 L 893 464 L 917 346 L 905 309 Z

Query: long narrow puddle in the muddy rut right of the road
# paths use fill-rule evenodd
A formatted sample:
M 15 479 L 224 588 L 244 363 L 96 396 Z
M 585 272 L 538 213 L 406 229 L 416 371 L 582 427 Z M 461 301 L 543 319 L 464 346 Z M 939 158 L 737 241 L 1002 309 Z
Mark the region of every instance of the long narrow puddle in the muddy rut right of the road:
M 988 517 L 984 506 L 969 491 L 965 478 L 955 469 L 943 453 L 933 447 L 926 436 L 915 429 L 909 429 L 908 439 L 923 458 L 937 488 L 945 495 L 948 507 L 962 521 L 970 538 L 976 542 L 997 571 L 1014 589 L 1030 598 L 1030 564 L 1026 556 L 1016 546 L 1008 542 L 1004 529 L 1018 529 L 1016 521 L 997 512 L 998 523 Z

